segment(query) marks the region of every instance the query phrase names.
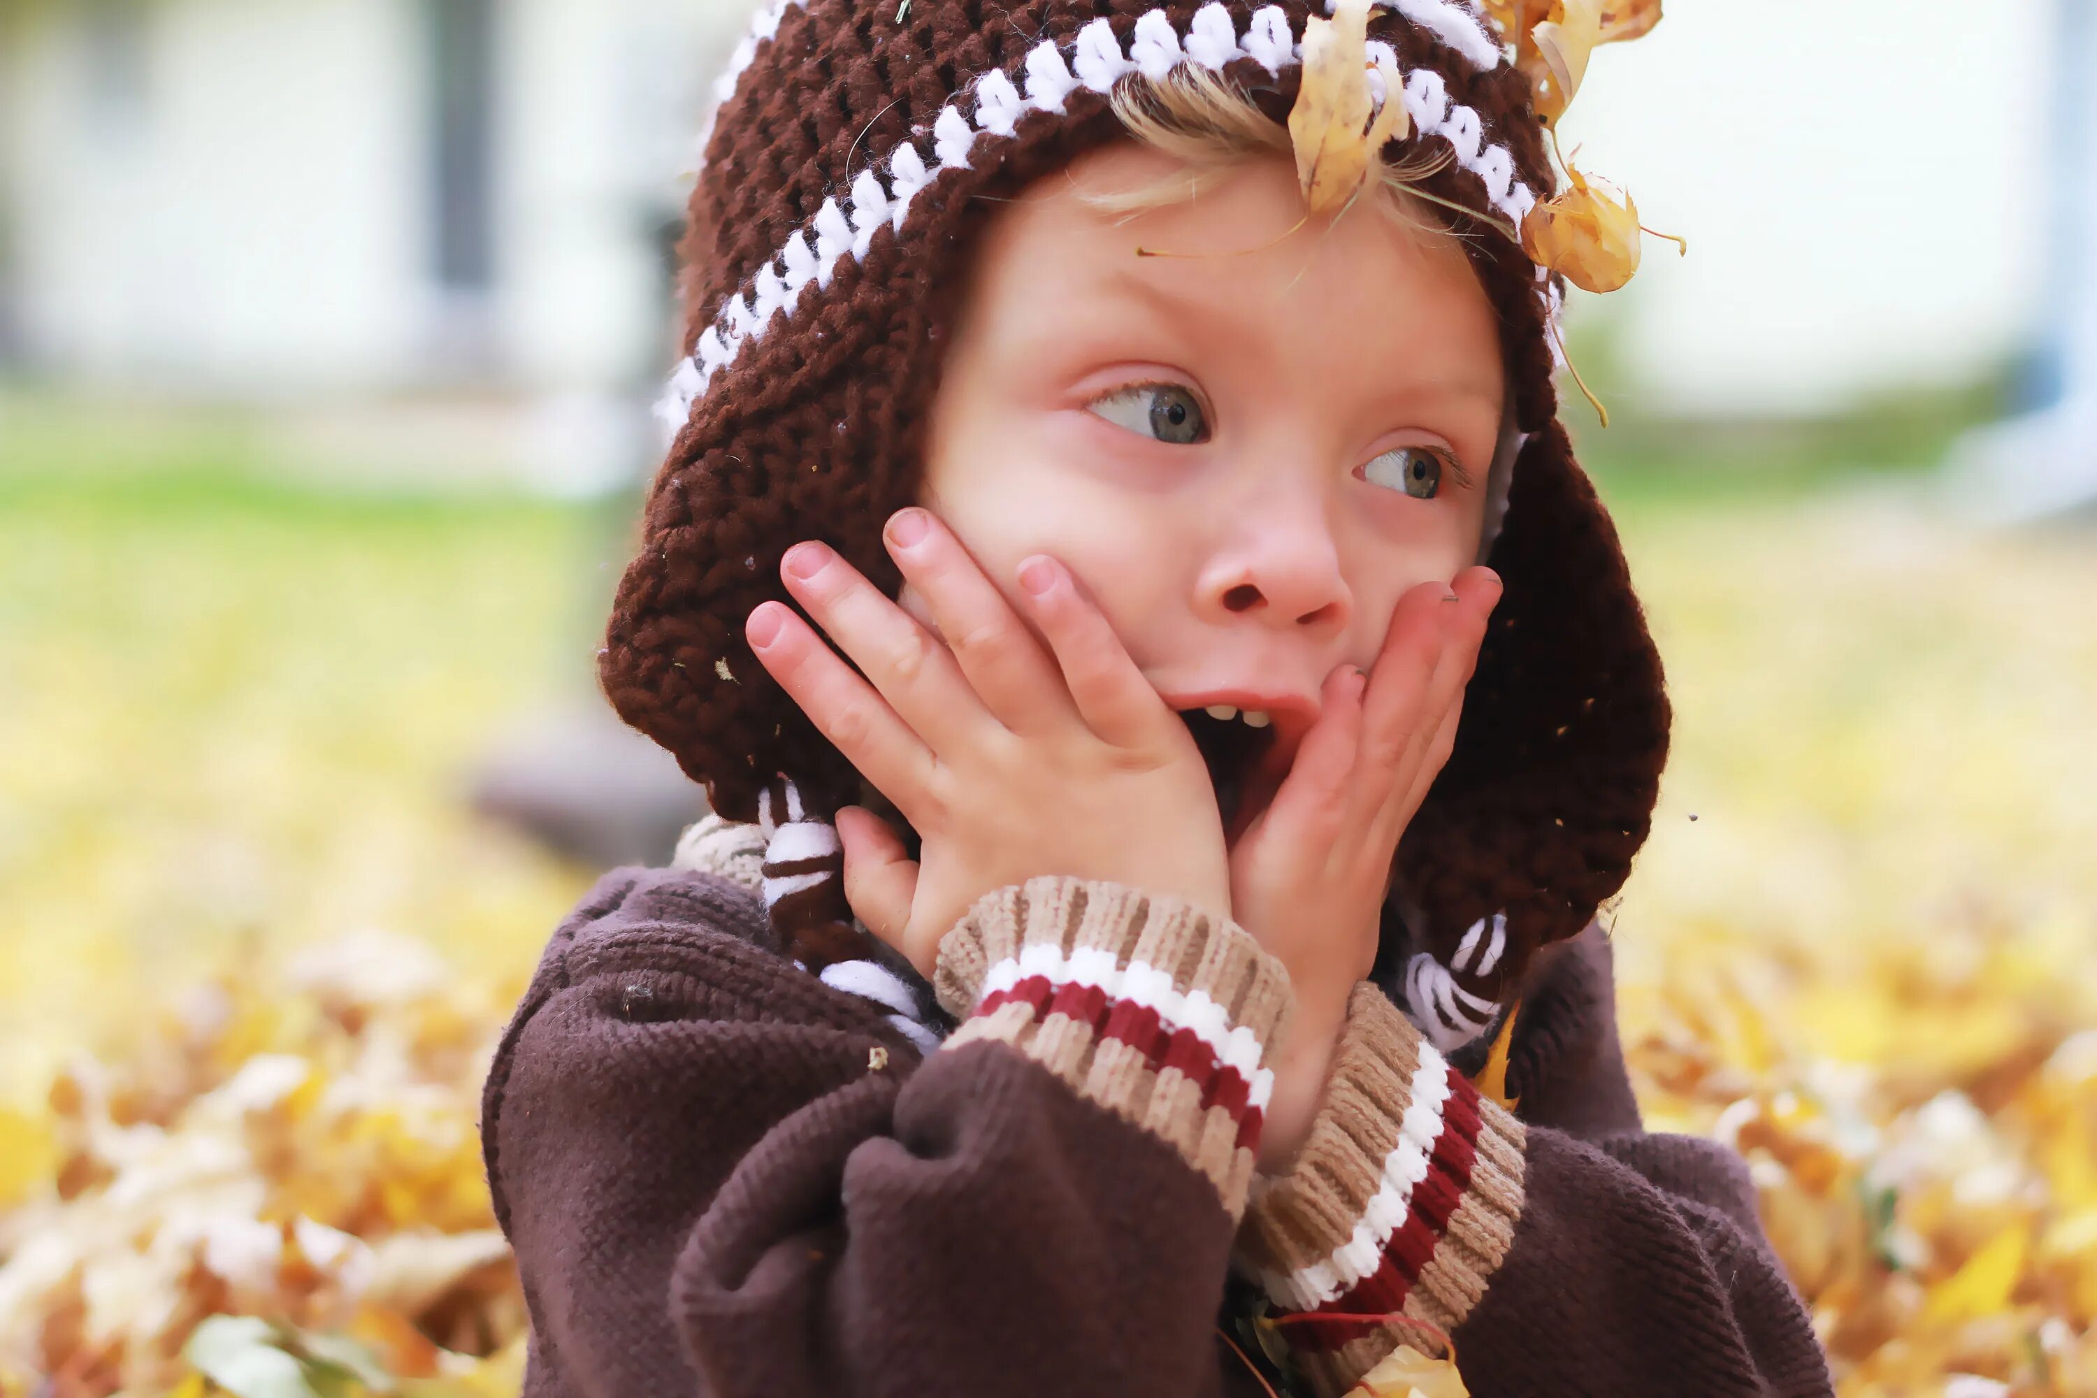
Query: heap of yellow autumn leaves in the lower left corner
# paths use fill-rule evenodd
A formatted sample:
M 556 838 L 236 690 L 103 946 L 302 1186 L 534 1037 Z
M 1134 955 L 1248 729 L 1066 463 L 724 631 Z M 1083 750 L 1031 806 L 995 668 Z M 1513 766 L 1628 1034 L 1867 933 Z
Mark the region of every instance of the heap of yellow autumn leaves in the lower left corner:
M 505 1008 L 382 933 L 140 1006 L 145 1052 L 73 1058 L 10 1121 L 15 1381 L 514 1394 L 524 1306 L 474 1128 Z

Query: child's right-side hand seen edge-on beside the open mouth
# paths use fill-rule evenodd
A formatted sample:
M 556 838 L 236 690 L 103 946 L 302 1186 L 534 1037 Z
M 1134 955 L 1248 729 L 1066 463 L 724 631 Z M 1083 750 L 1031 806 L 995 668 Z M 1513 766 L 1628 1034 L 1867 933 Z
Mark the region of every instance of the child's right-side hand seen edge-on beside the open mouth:
M 1288 966 L 1296 991 L 1264 1170 L 1294 1157 L 1317 1115 L 1348 996 L 1376 960 L 1390 859 L 1455 746 L 1499 589 L 1491 568 L 1466 568 L 1447 587 L 1407 591 L 1374 673 L 1342 667 L 1325 679 L 1317 725 L 1231 851 L 1237 922 Z

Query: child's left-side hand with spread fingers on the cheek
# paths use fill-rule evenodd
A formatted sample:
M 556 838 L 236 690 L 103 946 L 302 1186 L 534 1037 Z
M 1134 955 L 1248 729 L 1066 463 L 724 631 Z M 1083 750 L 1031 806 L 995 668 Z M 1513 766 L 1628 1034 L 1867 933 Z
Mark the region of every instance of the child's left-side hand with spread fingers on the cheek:
M 1044 650 L 929 511 L 898 511 L 885 539 L 944 643 L 820 543 L 788 549 L 780 574 L 864 677 L 793 608 L 768 602 L 747 625 L 765 671 L 925 838 L 916 864 L 870 811 L 839 811 L 858 918 L 931 977 L 975 899 L 1038 874 L 1229 916 L 1223 820 L 1193 736 L 1069 570 L 1019 566 Z

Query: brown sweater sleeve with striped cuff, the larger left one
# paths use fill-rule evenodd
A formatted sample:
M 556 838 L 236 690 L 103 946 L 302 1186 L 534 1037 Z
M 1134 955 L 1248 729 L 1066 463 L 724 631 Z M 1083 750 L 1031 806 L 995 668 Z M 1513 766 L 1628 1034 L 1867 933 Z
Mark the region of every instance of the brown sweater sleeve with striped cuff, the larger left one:
M 1279 964 L 1128 889 L 1004 889 L 942 945 L 963 1023 L 921 1061 L 761 920 L 608 876 L 497 1052 L 526 1394 L 1216 1392 Z

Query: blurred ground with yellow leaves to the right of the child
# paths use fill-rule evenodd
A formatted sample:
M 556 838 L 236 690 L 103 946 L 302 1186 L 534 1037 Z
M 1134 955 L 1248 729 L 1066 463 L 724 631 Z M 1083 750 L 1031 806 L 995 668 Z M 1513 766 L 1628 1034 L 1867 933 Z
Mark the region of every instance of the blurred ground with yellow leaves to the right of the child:
M 1648 1126 L 1745 1155 L 1845 1398 L 2097 1394 L 2097 551 L 1868 499 L 1629 537 Z

